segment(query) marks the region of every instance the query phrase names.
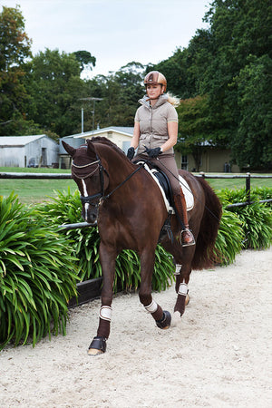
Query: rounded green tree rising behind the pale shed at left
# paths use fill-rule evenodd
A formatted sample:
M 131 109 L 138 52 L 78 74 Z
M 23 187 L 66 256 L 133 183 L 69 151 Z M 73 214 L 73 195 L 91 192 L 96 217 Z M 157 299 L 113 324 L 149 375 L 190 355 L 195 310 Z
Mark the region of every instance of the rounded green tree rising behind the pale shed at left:
M 59 136 L 80 129 L 79 98 L 85 83 L 80 79 L 80 63 L 74 53 L 46 49 L 28 63 L 25 87 L 31 96 L 28 118 L 44 131 Z

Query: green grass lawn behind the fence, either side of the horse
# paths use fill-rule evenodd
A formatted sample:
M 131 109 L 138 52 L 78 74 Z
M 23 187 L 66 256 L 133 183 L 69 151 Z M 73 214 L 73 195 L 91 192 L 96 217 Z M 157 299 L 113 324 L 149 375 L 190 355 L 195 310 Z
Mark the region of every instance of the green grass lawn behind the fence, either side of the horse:
M 68 173 L 71 170 L 61 169 L 22 169 L 0 167 L 0 172 L 35 172 L 35 173 Z M 228 173 L 229 174 L 229 173 Z M 208 175 L 208 174 L 207 174 Z M 270 174 L 271 176 L 271 174 Z M 207 179 L 213 189 L 243 189 L 245 179 Z M 0 195 L 7 197 L 12 191 L 18 195 L 23 203 L 42 202 L 50 197 L 56 197 L 56 191 L 67 191 L 70 187 L 73 192 L 77 189 L 73 180 L 25 180 L 25 179 L 0 179 Z M 251 187 L 269 187 L 272 189 L 271 179 L 251 179 Z

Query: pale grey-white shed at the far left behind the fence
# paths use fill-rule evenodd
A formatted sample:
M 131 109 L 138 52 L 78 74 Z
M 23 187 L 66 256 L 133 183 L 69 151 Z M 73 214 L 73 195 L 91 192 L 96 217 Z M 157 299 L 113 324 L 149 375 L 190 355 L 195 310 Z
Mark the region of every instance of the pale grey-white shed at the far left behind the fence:
M 0 166 L 52 166 L 58 162 L 59 145 L 45 134 L 1 136 Z

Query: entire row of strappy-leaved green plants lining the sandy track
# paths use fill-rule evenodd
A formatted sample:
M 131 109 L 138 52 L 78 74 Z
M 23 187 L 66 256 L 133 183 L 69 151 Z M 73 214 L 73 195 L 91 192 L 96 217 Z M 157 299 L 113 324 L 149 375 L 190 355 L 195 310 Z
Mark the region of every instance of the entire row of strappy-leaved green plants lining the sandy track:
M 245 201 L 245 190 L 218 191 L 223 215 L 216 241 L 219 264 L 228 265 L 243 248 L 268 248 L 272 241 L 271 205 Z M 254 189 L 251 199 L 270 199 L 272 189 Z M 82 221 L 79 192 L 58 192 L 57 199 L 28 208 L 12 194 L 0 197 L 0 349 L 7 343 L 33 345 L 44 335 L 65 334 L 67 302 L 76 295 L 76 281 L 102 275 L 96 228 L 60 230 Z M 153 290 L 169 287 L 174 265 L 156 249 Z M 139 257 L 124 250 L 116 260 L 114 290 L 140 285 Z

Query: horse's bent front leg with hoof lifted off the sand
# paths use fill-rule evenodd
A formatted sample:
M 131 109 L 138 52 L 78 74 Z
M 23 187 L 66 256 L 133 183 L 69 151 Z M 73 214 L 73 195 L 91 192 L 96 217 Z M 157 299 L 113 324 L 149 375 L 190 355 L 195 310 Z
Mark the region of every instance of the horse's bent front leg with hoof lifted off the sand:
M 141 253 L 141 287 L 139 297 L 141 304 L 151 314 L 156 321 L 156 325 L 161 329 L 170 327 L 171 316 L 167 310 L 162 310 L 152 298 L 151 282 L 154 270 L 155 253 L 154 251 L 145 250 Z

